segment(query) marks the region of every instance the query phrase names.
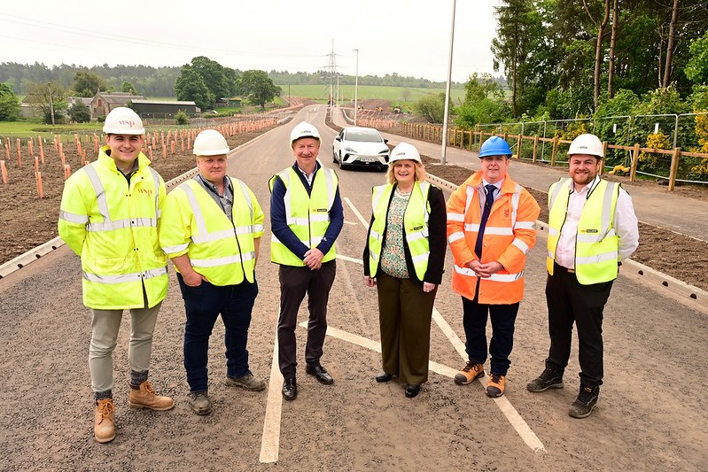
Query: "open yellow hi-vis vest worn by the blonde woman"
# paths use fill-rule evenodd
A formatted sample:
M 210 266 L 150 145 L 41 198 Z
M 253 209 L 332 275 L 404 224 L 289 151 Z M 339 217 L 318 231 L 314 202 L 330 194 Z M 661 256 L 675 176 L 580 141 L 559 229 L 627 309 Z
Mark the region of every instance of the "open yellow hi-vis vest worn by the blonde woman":
M 428 193 L 431 184 L 415 182 L 413 190 L 403 214 L 403 233 L 408 243 L 410 259 L 416 270 L 416 277 L 423 281 L 428 270 L 430 257 L 430 240 L 428 239 L 428 220 L 430 219 L 430 204 Z M 369 274 L 376 277 L 381 263 L 381 251 L 384 244 L 384 231 L 388 215 L 388 205 L 393 192 L 393 184 L 374 187 L 371 195 L 371 209 L 374 221 L 369 232 Z

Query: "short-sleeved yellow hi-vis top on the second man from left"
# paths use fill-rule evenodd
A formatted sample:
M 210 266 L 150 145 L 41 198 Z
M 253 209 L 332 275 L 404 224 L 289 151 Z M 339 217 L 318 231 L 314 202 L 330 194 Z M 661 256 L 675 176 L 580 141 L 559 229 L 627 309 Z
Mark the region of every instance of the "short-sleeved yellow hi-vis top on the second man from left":
M 183 254 L 195 272 L 217 286 L 254 281 L 255 245 L 263 236 L 263 212 L 248 186 L 230 179 L 233 223 L 222 208 L 191 179 L 167 195 L 159 223 L 159 244 L 170 259 Z

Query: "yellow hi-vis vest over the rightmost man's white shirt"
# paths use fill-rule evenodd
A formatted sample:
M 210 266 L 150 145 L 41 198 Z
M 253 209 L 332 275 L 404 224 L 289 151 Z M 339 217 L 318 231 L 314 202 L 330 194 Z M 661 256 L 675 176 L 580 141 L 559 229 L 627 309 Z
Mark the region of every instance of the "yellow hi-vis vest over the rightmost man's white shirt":
M 565 222 L 571 179 L 554 183 L 549 189 L 549 243 L 546 268 L 553 275 L 556 247 Z M 612 224 L 619 196 L 619 183 L 600 180 L 590 190 L 583 206 L 575 239 L 575 276 L 583 285 L 609 282 L 617 278 L 619 237 Z

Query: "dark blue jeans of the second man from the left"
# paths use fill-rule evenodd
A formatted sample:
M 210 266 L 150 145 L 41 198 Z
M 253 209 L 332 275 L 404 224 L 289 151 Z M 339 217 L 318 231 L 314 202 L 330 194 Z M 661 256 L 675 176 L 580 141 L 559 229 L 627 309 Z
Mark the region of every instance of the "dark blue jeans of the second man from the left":
M 184 327 L 184 368 L 190 391 L 208 390 L 209 337 L 219 314 L 226 333 L 226 375 L 237 378 L 250 373 L 248 368 L 248 328 L 251 325 L 253 303 L 258 295 L 258 283 L 244 281 L 238 285 L 218 287 L 202 281 L 190 287 L 177 274 L 182 290 L 187 324 Z

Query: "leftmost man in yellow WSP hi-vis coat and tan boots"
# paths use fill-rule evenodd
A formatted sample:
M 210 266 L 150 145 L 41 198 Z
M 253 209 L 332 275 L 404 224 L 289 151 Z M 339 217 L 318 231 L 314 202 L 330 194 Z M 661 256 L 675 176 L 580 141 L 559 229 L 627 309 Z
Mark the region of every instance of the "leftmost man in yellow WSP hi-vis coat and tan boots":
M 113 349 L 123 310 L 130 311 L 131 326 L 128 404 L 159 411 L 175 406 L 147 380 L 152 332 L 167 295 L 157 229 L 165 182 L 141 152 L 144 128 L 136 112 L 115 108 L 104 133 L 107 145 L 98 160 L 66 181 L 58 221 L 59 236 L 82 258 L 83 303 L 93 317 L 89 368 L 99 443 L 115 437 Z

